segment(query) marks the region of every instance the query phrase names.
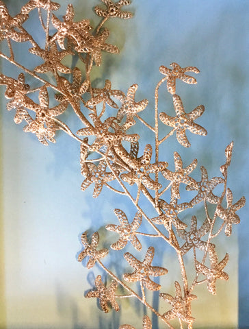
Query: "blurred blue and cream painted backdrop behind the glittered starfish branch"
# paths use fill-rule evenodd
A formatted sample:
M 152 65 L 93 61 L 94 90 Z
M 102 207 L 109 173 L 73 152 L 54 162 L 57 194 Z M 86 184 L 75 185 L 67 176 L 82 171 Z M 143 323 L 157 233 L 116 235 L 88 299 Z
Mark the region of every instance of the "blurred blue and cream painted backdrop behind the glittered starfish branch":
M 25 3 L 4 2 L 12 8 L 12 14 Z M 61 18 L 68 1 L 57 2 L 62 4 L 56 12 Z M 93 25 L 99 22 L 92 12 L 97 0 L 72 2 L 75 21 L 90 18 Z M 114 19 L 107 24 L 111 30 L 107 41 L 118 45 L 120 55 L 103 56 L 103 66 L 94 69 L 96 84 L 103 86 L 104 80 L 109 79 L 112 88 L 127 93 L 129 86 L 137 83 L 136 99 L 150 101 L 146 108 L 149 120 L 153 115 L 155 86 L 161 79 L 159 66 L 169 66 L 171 62 L 197 66 L 201 71 L 198 85 L 179 82 L 177 88 L 186 112 L 205 105 L 205 114 L 198 123 L 207 129 L 208 135 L 205 138 L 188 135 L 192 148 L 187 150 L 171 137 L 166 143 L 166 156 L 172 157 L 173 150 L 179 151 L 186 165 L 198 158 L 199 165 L 205 165 L 213 177 L 220 175 L 224 149 L 233 140 L 228 186 L 233 191 L 234 202 L 242 195 L 249 202 L 248 1 L 134 0 L 131 11 L 135 12 L 133 19 Z M 35 33 L 39 34 L 39 30 L 35 29 Z M 23 58 L 23 53 L 18 53 L 18 57 Z M 1 61 L 1 68 L 7 73 L 10 65 Z M 16 77 L 16 69 L 12 76 Z M 92 199 L 92 188 L 82 193 L 79 145 L 60 134 L 55 145 L 44 147 L 35 136 L 24 133 L 21 126 L 14 124 L 13 113 L 5 110 L 4 90 L 1 87 L 3 328 L 114 329 L 131 319 L 131 307 L 137 315 L 132 324 L 142 328 L 142 306 L 125 301 L 121 313 L 112 311 L 105 315 L 96 300 L 84 299 L 83 294 L 102 272 L 98 268 L 87 271 L 86 263 L 84 267 L 76 260 L 81 250 L 81 232 L 101 230 L 101 241 L 104 241 L 105 225 L 116 221 L 113 209 L 120 208 L 133 218 L 135 208 L 107 189 L 98 199 Z M 160 110 L 172 111 L 166 88 L 161 87 L 160 93 L 164 99 Z M 72 125 L 76 130 L 78 123 L 72 121 Z M 144 145 L 149 143 L 146 130 L 139 134 L 144 138 Z M 194 316 L 198 319 L 195 328 L 249 328 L 247 208 L 246 205 L 239 210 L 241 223 L 233 227 L 235 234 L 230 239 L 220 234 L 219 256 L 223 258 L 226 252 L 231 256 L 225 269 L 230 280 L 219 282 L 217 296 L 202 287 L 205 290 L 200 291 L 202 300 L 193 303 Z M 174 265 L 174 255 L 161 245 L 157 247 L 166 264 Z M 114 256 L 117 258 L 112 260 L 111 267 L 119 261 L 118 256 Z M 159 257 L 155 258 L 153 265 L 159 262 Z M 122 264 L 127 266 L 125 261 Z M 160 282 L 167 286 L 170 279 L 171 283 L 175 280 L 169 273 L 166 282 Z M 174 294 L 174 289 L 169 292 Z M 161 312 L 164 308 L 160 303 Z M 163 326 L 153 319 L 153 329 L 156 328 Z

